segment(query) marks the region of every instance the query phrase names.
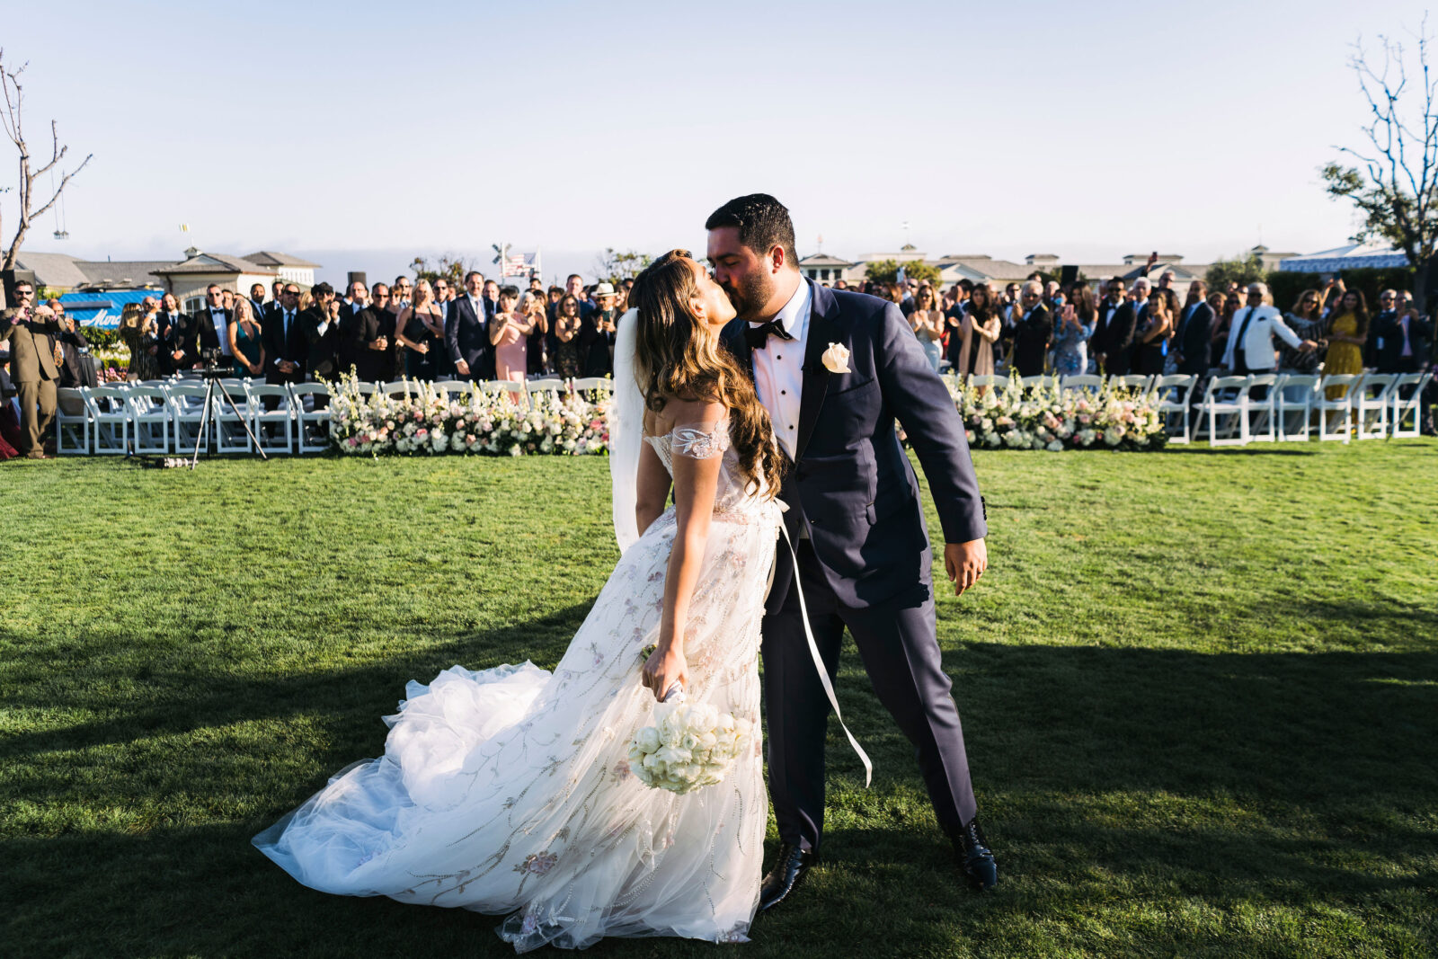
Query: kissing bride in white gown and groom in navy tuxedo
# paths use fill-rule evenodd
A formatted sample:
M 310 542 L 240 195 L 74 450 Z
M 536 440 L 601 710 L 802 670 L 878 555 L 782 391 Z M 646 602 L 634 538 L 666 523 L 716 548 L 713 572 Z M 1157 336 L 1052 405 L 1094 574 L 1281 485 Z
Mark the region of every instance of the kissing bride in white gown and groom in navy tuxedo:
M 919 483 L 894 430 L 923 466 L 962 594 L 988 558 L 953 401 L 896 305 L 800 275 L 778 200 L 738 197 L 705 226 L 712 276 L 666 253 L 618 325 L 623 555 L 564 659 L 554 673 L 454 666 L 411 682 L 385 717 L 384 756 L 255 837 L 301 883 L 503 914 L 518 952 L 604 936 L 746 942 L 755 913 L 794 897 L 818 861 L 846 627 L 915 745 L 955 878 L 998 881 L 935 634 Z M 781 840 L 766 874 L 756 653 Z M 634 743 L 679 709 L 754 732 L 718 781 L 651 788 Z

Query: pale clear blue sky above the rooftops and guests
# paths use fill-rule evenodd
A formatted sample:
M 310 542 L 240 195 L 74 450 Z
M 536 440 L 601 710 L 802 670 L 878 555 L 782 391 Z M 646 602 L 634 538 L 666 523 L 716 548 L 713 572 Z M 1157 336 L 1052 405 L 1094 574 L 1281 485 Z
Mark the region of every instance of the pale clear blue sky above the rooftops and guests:
M 1391 0 L 1255 3 L 93 3 L 4 0 L 39 152 L 95 152 L 32 250 L 309 254 L 703 246 L 768 191 L 801 253 L 1345 242 L 1317 168 L 1353 142 L 1359 35 Z M 7 147 L 7 145 L 6 145 Z M 0 160 L 0 183 L 14 167 Z M 13 196 L 0 198 L 4 242 Z M 181 234 L 180 223 L 191 233 Z M 487 263 L 487 257 L 486 257 Z

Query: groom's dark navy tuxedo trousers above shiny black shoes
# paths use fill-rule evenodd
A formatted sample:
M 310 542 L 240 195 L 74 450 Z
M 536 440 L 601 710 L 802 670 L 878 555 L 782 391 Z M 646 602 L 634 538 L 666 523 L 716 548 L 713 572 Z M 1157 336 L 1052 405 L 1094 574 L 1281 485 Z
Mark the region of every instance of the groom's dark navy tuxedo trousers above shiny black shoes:
M 810 624 L 830 680 L 838 671 L 848 627 L 879 702 L 915 746 L 939 827 L 951 838 L 958 837 L 976 805 L 959 710 L 939 653 L 932 584 L 925 584 L 928 598 L 922 602 L 846 607 L 825 582 L 810 541 L 798 541 L 795 551 Z M 782 545 L 777 562 L 789 562 Z M 831 710 L 804 634 L 795 584 L 791 582 L 778 612 L 764 617 L 762 633 L 769 797 L 779 838 L 818 850 L 824 832 L 824 740 Z M 856 735 L 863 740 L 861 733 Z

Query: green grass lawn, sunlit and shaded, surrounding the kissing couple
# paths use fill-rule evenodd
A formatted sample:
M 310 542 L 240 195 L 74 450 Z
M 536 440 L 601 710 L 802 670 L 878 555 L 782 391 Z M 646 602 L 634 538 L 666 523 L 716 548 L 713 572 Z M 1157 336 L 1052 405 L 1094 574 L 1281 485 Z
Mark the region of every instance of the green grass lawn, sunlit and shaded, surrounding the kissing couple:
M 733 955 L 1438 950 L 1438 443 L 976 466 L 992 565 L 939 638 L 1001 886 L 958 881 L 850 650 L 874 785 L 833 726 L 825 863 Z M 604 460 L 13 463 L 0 503 L 0 955 L 508 950 L 249 838 L 407 680 L 559 659 L 617 555 Z

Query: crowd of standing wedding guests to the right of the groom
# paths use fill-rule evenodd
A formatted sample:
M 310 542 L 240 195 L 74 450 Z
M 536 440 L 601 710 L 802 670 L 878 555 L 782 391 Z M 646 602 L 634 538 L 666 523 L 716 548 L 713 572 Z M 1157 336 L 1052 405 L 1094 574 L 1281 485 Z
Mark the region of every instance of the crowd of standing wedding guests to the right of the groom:
M 866 292 L 899 303 L 933 368 L 961 375 L 1418 372 L 1432 344 L 1411 293 L 1383 290 L 1372 311 L 1342 279 L 1304 290 L 1288 311 L 1265 283 L 1209 290 L 1194 280 L 1179 292 L 1171 272 L 1132 285 L 1114 276 L 1097 292 L 1037 277 L 1002 290 L 961 280 L 942 293 L 928 282 Z

